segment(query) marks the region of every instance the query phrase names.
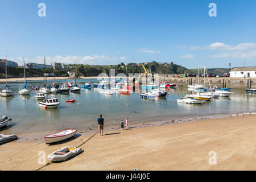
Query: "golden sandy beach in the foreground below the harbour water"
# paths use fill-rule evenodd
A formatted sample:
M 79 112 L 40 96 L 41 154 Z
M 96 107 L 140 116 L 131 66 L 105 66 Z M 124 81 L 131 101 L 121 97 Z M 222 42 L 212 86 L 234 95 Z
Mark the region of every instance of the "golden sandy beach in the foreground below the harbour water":
M 113 127 L 100 137 L 80 130 L 68 141 L 48 145 L 30 134 L 0 146 L 1 170 L 256 170 L 256 115 L 203 119 L 185 123 L 133 123 L 129 130 Z M 144 127 L 143 127 L 144 126 Z M 148 127 L 149 126 L 149 127 Z M 44 134 L 41 134 L 42 136 Z M 26 139 L 30 138 L 30 139 Z M 38 164 L 63 146 L 83 152 L 60 163 Z M 217 164 L 210 165 L 210 151 Z

